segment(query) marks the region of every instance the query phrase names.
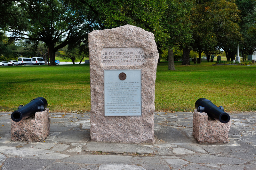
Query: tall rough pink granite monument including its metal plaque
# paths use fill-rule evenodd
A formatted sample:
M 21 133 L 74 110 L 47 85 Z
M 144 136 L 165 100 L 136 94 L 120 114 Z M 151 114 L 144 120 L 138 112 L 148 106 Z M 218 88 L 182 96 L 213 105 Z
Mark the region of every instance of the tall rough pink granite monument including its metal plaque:
M 91 140 L 154 143 L 154 34 L 125 25 L 89 33 Z

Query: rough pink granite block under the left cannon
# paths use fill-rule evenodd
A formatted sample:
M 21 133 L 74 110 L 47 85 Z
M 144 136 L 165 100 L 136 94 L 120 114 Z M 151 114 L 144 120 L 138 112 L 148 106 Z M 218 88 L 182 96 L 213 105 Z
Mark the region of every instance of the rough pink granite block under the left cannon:
M 20 122 L 12 121 L 12 141 L 43 142 L 50 132 L 49 109 Z

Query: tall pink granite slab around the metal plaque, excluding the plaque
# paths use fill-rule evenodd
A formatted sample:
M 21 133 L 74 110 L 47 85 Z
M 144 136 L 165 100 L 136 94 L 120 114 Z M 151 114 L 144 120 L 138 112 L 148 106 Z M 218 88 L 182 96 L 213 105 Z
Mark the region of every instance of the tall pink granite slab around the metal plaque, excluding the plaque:
M 154 34 L 131 25 L 95 30 L 89 33 L 89 51 L 91 140 L 155 143 L 154 100 L 159 56 Z M 110 52 L 115 51 L 120 56 L 111 57 Z M 104 70 L 123 69 L 141 69 L 141 116 L 105 116 Z

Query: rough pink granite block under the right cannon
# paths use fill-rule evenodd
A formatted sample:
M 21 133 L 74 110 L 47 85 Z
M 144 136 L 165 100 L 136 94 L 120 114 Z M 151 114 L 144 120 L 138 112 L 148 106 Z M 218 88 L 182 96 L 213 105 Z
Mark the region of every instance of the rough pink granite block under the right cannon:
M 211 118 L 209 118 L 211 119 Z M 231 121 L 221 123 L 217 120 L 209 120 L 207 113 L 194 110 L 193 136 L 202 143 L 225 144 L 228 143 L 228 132 Z

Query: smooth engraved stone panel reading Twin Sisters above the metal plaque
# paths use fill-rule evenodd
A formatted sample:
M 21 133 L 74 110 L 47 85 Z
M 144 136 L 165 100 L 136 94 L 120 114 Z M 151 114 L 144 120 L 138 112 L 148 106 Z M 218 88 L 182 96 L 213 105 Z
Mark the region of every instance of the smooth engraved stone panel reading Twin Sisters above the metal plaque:
M 103 48 L 100 60 L 103 66 L 142 65 L 144 50 L 141 47 Z

